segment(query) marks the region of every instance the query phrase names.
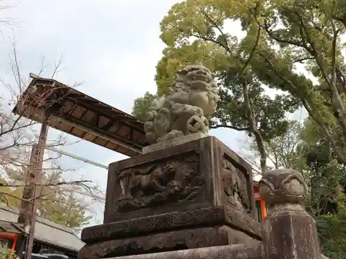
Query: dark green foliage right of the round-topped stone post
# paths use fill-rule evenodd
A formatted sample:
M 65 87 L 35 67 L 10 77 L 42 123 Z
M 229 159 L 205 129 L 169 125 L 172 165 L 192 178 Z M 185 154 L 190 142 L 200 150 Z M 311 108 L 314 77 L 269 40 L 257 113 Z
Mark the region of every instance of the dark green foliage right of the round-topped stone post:
M 301 137 L 304 176 L 311 190 L 308 209 L 316 219 L 322 253 L 329 258 L 346 258 L 345 165 L 338 162 L 331 143 L 311 119 Z

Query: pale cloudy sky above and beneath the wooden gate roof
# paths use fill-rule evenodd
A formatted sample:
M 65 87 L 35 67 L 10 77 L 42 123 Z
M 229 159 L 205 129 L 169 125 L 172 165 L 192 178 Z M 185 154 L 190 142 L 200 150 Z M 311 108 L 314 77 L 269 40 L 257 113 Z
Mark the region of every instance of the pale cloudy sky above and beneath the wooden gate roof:
M 16 39 L 21 73 L 37 73 L 41 57 L 53 64 L 64 55 L 64 68 L 56 77 L 65 84 L 82 81 L 78 90 L 127 113 L 134 99 L 146 91 L 154 93 L 155 66 L 161 59 L 164 44 L 159 39 L 159 23 L 176 0 L 18 0 L 2 10 L 0 17 L 10 17 L 15 26 L 1 26 L 0 76 L 10 77 L 10 39 Z M 233 31 L 237 31 L 234 30 Z M 52 68 L 52 66 L 50 67 Z M 50 75 L 47 70 L 46 76 Z M 2 87 L 2 86 L 1 86 Z M 54 136 L 54 131 L 50 131 Z M 234 151 L 244 135 L 229 129 L 212 131 Z M 71 139 L 73 141 L 73 139 Z M 108 165 L 125 158 L 89 142 L 66 146 L 65 151 Z M 100 184 L 105 190 L 107 171 L 77 162 L 63 160 L 66 168 L 76 169 L 69 178 L 84 178 Z M 102 222 L 102 204 L 95 207 Z

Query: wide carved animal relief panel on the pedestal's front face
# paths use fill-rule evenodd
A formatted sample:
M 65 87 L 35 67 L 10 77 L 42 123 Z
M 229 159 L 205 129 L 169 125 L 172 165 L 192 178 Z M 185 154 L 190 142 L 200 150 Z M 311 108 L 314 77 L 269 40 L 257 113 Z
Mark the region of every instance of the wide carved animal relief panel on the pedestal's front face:
M 116 176 L 117 210 L 132 211 L 201 197 L 204 178 L 199 162 L 199 153 L 191 152 L 120 171 Z

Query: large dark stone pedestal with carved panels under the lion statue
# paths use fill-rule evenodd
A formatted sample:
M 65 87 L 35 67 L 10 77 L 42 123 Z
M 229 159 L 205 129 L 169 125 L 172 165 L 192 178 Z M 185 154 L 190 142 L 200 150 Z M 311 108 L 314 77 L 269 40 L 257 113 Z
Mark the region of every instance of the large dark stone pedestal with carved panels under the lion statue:
M 79 259 L 260 240 L 251 166 L 215 137 L 109 165 L 104 224 L 83 229 Z

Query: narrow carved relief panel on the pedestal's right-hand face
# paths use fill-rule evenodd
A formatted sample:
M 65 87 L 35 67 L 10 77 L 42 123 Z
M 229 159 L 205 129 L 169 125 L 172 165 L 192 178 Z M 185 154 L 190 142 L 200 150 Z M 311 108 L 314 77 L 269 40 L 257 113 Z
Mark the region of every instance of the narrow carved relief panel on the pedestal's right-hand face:
M 228 204 L 248 213 L 252 211 L 246 175 L 226 157 L 222 160 L 222 184 Z

